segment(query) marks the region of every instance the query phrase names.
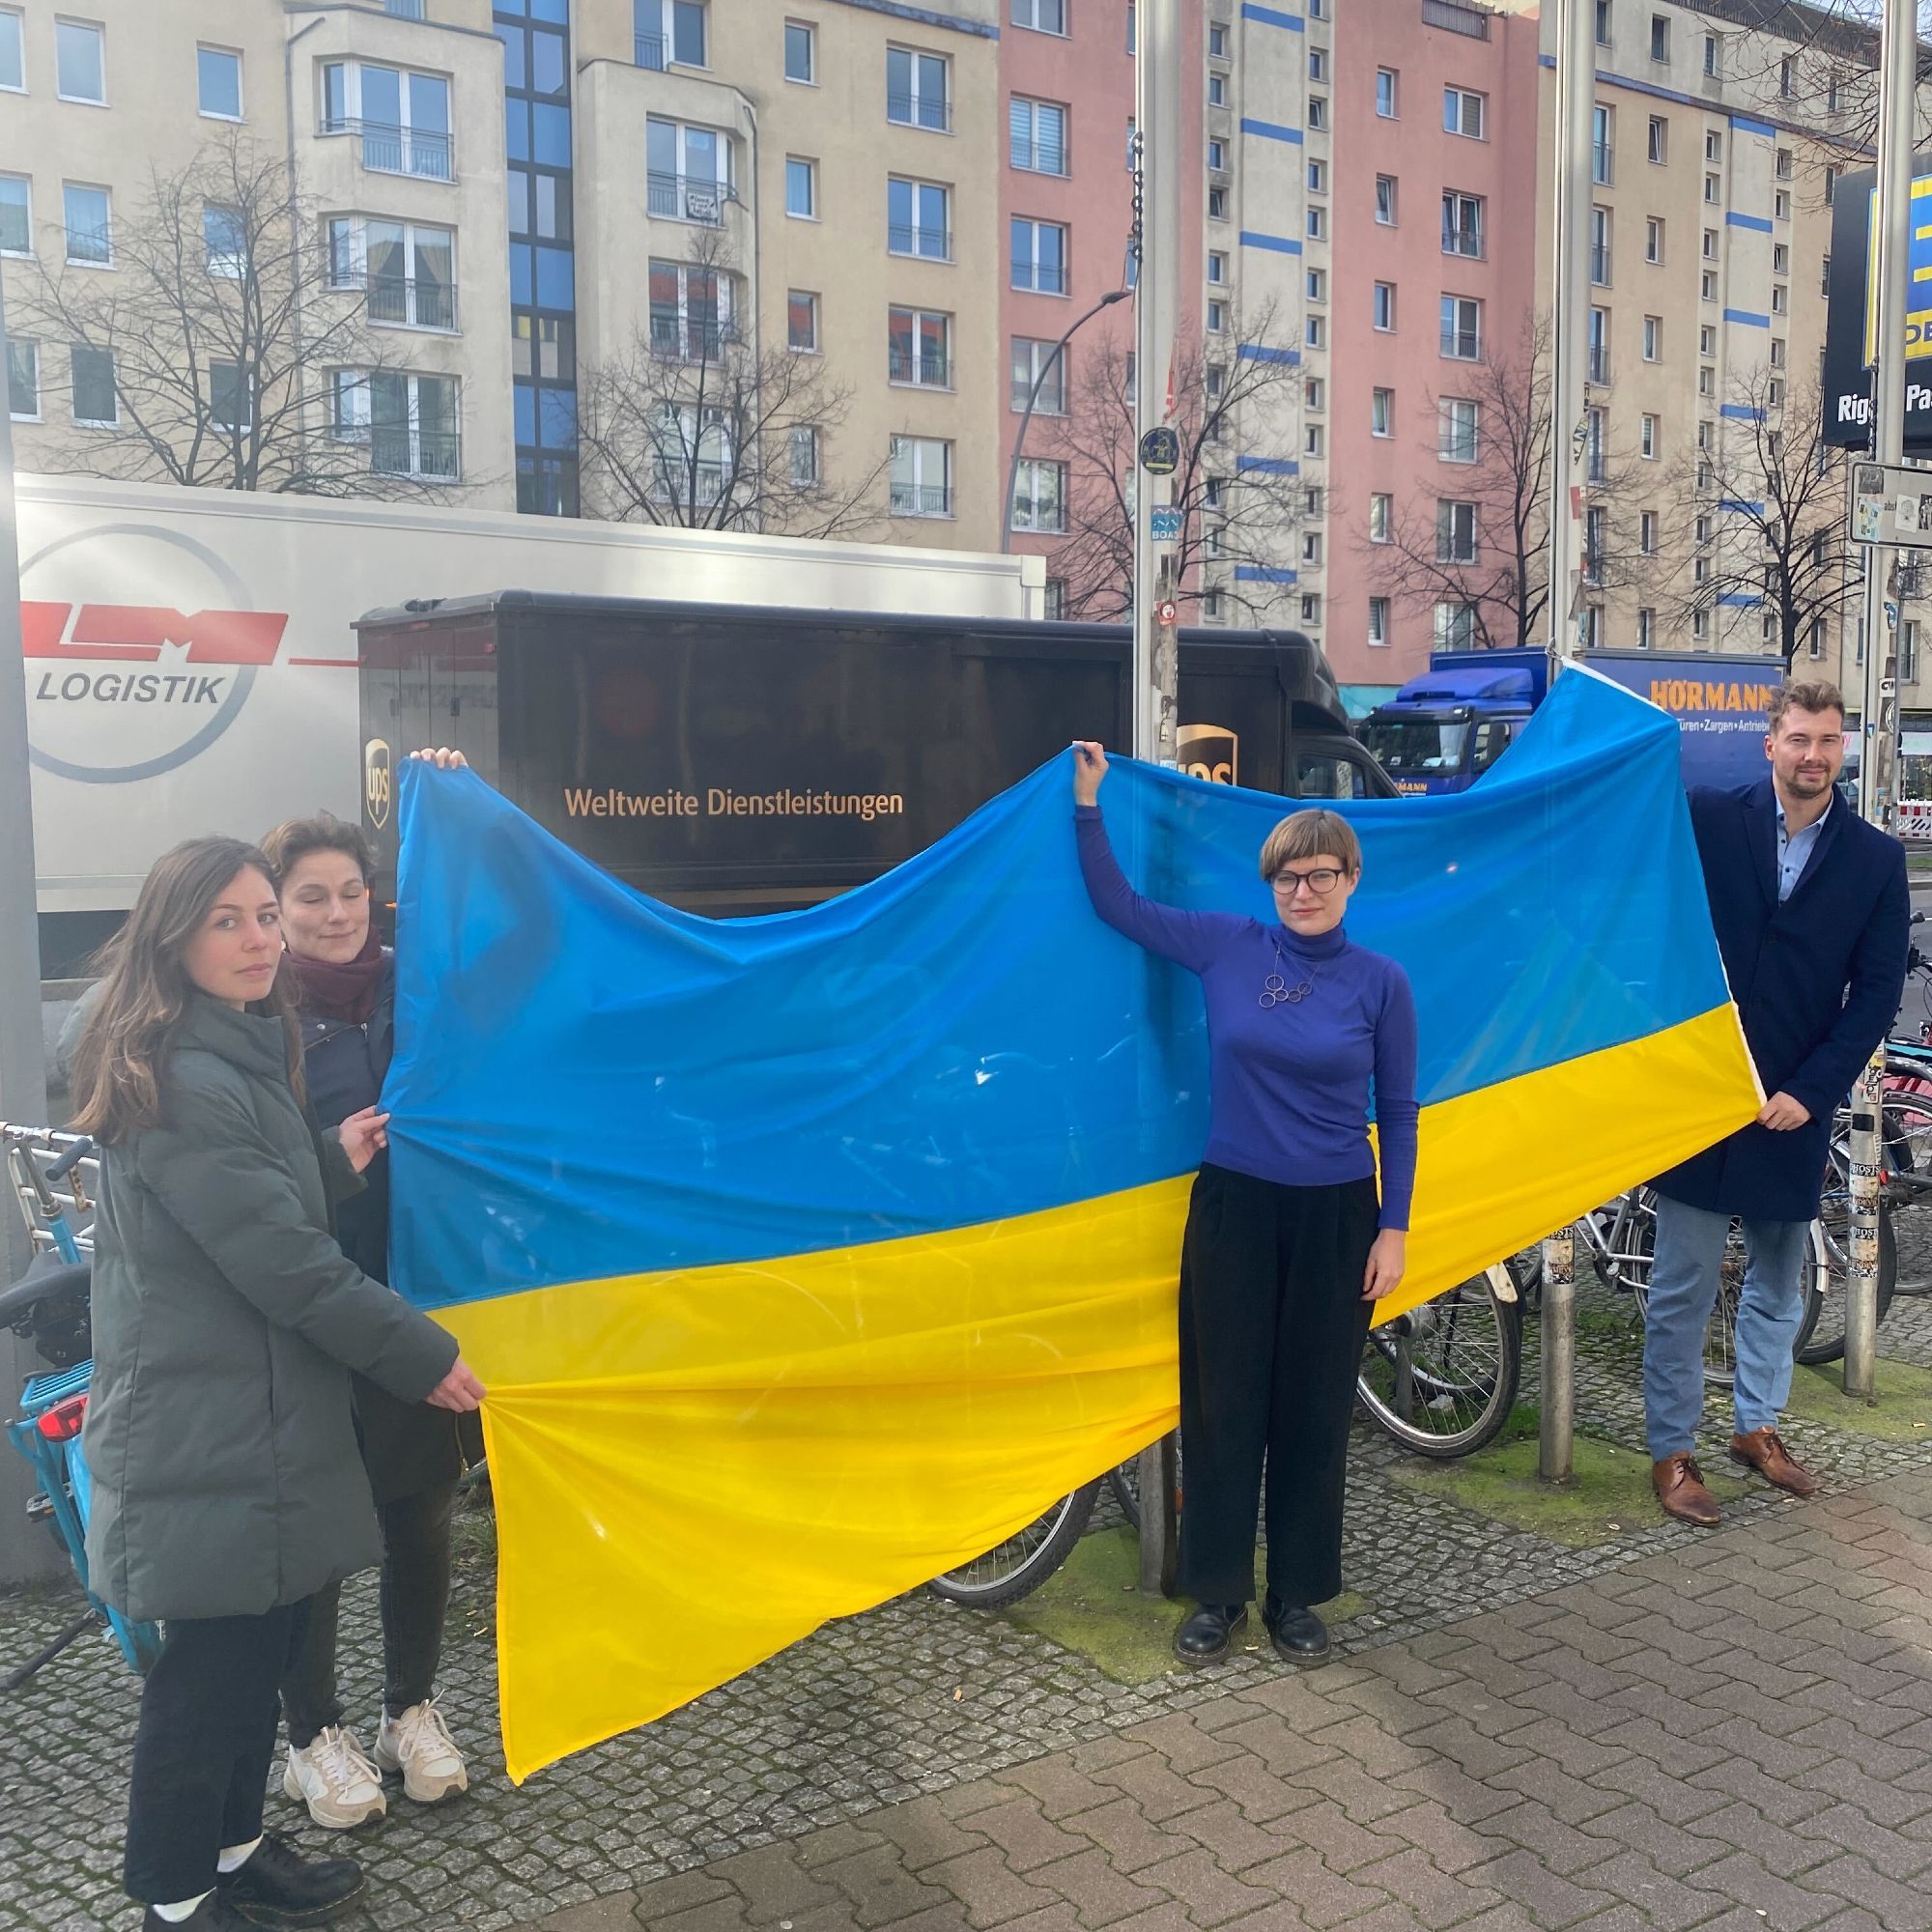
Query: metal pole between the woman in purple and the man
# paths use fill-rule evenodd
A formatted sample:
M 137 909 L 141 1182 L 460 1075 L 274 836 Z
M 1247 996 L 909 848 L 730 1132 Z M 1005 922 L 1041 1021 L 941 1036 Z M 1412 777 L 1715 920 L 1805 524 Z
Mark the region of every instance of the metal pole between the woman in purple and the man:
M 1577 655 L 1577 591 L 1582 578 L 1584 355 L 1590 321 L 1590 110 L 1596 106 L 1592 0 L 1557 10 L 1555 191 L 1549 234 L 1549 682 Z M 1577 1416 L 1577 1244 L 1569 1227 L 1542 1252 L 1542 1403 L 1536 1468 L 1544 1482 L 1571 1480 Z

